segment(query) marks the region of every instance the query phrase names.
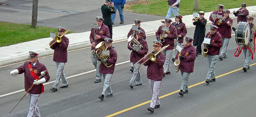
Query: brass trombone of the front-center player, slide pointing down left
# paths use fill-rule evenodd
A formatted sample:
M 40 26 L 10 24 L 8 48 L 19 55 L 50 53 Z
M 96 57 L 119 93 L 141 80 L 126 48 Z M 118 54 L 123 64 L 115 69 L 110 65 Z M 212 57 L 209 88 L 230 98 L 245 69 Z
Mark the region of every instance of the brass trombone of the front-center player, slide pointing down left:
M 135 63 L 133 66 L 134 68 L 138 69 L 140 66 L 142 66 L 146 61 L 150 60 L 150 61 L 153 61 L 155 62 L 156 61 L 156 55 L 158 55 L 160 52 L 164 51 L 169 45 L 166 45 L 164 46 L 163 48 L 161 48 L 156 54 L 152 54 L 153 51 L 155 50 L 152 50 L 151 52 L 149 52 L 149 54 L 145 55 L 142 59 L 140 59 L 137 63 Z M 147 59 L 146 61 L 144 61 L 142 64 L 140 64 L 140 66 L 138 67 L 135 67 L 136 64 L 138 64 L 140 61 L 142 61 L 146 56 L 149 55 L 149 59 Z

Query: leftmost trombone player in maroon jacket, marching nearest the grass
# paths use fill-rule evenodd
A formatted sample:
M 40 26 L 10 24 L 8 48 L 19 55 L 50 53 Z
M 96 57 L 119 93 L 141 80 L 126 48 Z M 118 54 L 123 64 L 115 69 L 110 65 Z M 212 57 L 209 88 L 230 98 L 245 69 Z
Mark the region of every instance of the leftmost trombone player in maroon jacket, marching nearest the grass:
M 65 32 L 65 28 L 63 27 L 57 27 L 58 28 L 58 35 L 62 36 Z M 56 64 L 57 67 L 57 73 L 56 73 L 56 80 L 53 84 L 53 87 L 50 89 L 52 91 L 58 91 L 58 85 L 60 82 L 60 79 L 62 79 L 62 86 L 60 88 L 66 88 L 68 87 L 68 80 L 66 80 L 66 76 L 63 72 L 64 65 L 66 62 L 68 62 L 68 44 L 69 39 L 63 35 L 62 41 L 60 43 L 54 43 L 55 40 L 53 40 L 50 43 L 50 48 L 54 50 L 53 53 L 53 61 Z M 53 44 L 54 43 L 54 44 Z

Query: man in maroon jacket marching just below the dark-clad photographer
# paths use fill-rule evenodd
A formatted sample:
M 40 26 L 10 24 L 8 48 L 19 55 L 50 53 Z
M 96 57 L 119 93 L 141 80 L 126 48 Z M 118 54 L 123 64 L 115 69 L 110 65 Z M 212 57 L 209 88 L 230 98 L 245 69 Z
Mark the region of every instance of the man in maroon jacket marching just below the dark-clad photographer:
M 108 27 L 103 23 L 104 19 L 101 16 L 96 16 L 96 23 L 98 24 L 98 29 L 96 29 L 96 35 L 94 37 L 94 28 L 91 28 L 91 34 L 90 34 L 90 41 L 91 41 L 91 50 L 95 49 L 95 46 L 102 41 L 104 41 L 104 38 L 110 38 L 110 33 L 108 31 Z M 94 39 L 96 39 L 96 44 L 94 43 Z M 91 61 L 96 69 L 96 80 L 94 83 L 101 82 L 101 76 L 99 72 L 99 67 L 101 61 L 97 60 L 98 57 L 95 54 L 91 54 Z

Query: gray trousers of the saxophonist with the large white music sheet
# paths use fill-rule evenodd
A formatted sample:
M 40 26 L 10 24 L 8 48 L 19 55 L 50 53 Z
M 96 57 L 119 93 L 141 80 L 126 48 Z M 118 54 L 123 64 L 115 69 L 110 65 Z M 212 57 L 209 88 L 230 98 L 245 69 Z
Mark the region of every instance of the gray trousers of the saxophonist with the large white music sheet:
M 215 68 L 215 63 L 217 62 L 217 58 L 218 58 L 218 55 L 207 55 L 209 70 L 208 70 L 206 79 L 208 80 L 211 78 L 212 79 L 215 78 L 214 68 Z

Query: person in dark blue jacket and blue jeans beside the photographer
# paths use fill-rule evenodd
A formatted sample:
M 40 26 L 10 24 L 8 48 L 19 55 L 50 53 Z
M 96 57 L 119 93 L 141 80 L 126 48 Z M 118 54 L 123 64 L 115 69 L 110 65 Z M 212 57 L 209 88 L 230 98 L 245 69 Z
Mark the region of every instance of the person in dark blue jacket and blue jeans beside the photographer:
M 124 4 L 126 4 L 126 0 L 111 0 L 114 3 L 115 11 L 119 12 L 120 17 L 120 24 L 124 23 L 124 15 L 123 15 L 123 8 Z M 112 14 L 112 25 L 114 25 L 114 19 L 116 18 L 116 14 Z

